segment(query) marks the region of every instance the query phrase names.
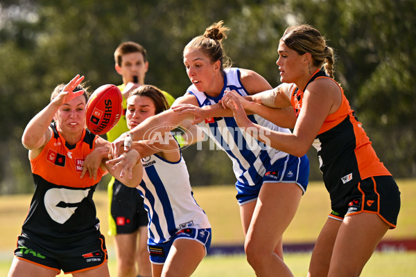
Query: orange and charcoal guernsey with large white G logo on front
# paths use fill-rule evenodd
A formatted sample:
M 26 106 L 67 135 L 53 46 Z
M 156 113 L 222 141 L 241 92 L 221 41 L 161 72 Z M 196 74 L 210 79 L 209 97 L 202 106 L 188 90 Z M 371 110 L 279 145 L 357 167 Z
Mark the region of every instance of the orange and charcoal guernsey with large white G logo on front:
M 22 235 L 53 247 L 89 244 L 101 235 L 92 195 L 105 171 L 100 168 L 96 180 L 80 174 L 98 136 L 84 129 L 82 139 L 68 145 L 55 123 L 51 127 L 51 140 L 31 159 L 35 193 Z

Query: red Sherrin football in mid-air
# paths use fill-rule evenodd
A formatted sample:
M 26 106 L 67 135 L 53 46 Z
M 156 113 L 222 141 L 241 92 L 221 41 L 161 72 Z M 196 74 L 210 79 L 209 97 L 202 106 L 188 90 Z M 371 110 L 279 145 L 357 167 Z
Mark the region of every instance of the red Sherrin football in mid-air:
M 85 108 L 87 128 L 93 134 L 105 134 L 117 122 L 123 113 L 123 96 L 114 84 L 104 84 L 89 96 Z

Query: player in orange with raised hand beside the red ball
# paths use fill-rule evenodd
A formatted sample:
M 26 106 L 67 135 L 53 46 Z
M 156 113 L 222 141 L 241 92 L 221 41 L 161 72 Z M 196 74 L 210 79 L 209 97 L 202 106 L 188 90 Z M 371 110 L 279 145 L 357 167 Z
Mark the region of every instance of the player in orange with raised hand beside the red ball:
M 22 143 L 29 150 L 35 193 L 18 236 L 9 277 L 53 277 L 64 271 L 76 277 L 110 276 L 107 250 L 92 196 L 106 168 L 103 162 L 92 178 L 83 173 L 85 158 L 108 141 L 85 129 L 87 92 L 77 75 L 60 84 L 51 102 L 26 126 Z M 51 121 L 53 120 L 53 123 Z M 107 149 L 108 151 L 108 149 Z M 130 152 L 132 152 L 130 154 Z M 101 154 L 107 156 L 106 152 Z M 132 163 L 136 150 L 125 153 Z M 105 161 L 105 160 L 104 160 Z M 107 170 L 123 184 L 137 186 L 142 166 L 129 175 Z

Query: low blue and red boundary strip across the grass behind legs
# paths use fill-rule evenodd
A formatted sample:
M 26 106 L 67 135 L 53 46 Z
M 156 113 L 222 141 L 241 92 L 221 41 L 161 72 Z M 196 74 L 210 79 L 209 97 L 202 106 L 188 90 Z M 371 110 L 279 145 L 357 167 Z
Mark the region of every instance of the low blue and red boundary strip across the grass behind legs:
M 311 252 L 315 242 L 284 244 L 286 253 Z M 382 240 L 376 247 L 376 251 L 416 251 L 416 239 Z M 241 255 L 244 254 L 242 244 L 211 245 L 208 255 Z

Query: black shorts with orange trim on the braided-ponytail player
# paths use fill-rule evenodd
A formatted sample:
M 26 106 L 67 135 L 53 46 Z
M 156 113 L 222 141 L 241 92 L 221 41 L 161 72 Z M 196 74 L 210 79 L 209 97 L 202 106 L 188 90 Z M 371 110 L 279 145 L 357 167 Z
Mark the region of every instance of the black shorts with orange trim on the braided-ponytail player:
M 331 203 L 329 217 L 343 220 L 357 213 L 375 213 L 381 220 L 395 229 L 400 211 L 400 191 L 391 176 L 368 177 L 361 180 L 349 194 L 336 203 Z

